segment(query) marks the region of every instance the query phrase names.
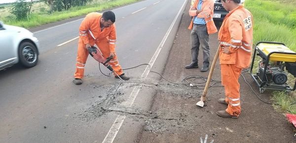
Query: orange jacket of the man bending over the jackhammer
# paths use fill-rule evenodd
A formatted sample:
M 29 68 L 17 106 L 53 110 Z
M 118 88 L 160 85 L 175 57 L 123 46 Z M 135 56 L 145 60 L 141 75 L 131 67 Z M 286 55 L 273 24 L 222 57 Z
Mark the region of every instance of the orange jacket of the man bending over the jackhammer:
M 82 38 L 83 43 L 92 43 L 93 41 L 104 41 L 109 43 L 110 52 L 115 52 L 115 42 L 116 42 L 116 28 L 115 24 L 112 24 L 109 28 L 104 28 L 101 31 L 100 19 L 102 17 L 101 13 L 92 12 L 86 15 L 79 27 L 79 37 Z

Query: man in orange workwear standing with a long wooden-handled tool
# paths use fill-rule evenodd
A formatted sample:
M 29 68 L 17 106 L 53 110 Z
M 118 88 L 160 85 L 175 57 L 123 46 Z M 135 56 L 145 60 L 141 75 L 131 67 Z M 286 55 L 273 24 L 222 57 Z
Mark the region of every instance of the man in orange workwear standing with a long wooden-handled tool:
M 253 45 L 253 16 L 239 4 L 240 0 L 222 0 L 222 6 L 230 11 L 219 30 L 219 58 L 225 98 L 218 102 L 227 109 L 218 111 L 221 117 L 238 118 L 241 114 L 239 82 L 241 71 L 250 66 Z

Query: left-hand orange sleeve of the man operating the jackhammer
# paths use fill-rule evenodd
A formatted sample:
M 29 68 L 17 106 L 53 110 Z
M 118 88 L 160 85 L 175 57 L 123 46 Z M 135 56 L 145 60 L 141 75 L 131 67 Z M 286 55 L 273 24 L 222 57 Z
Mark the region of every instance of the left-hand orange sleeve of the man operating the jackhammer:
M 82 38 L 84 44 L 89 43 L 88 34 L 87 34 L 89 27 L 90 27 L 90 20 L 89 20 L 89 17 L 86 15 L 86 17 L 83 19 L 79 27 L 79 37 Z

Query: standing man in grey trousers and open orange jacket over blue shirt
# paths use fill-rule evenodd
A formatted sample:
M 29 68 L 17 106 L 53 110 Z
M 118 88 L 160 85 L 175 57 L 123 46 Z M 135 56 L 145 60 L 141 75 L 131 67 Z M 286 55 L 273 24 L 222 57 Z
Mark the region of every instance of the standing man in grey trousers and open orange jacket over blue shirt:
M 198 68 L 199 47 L 203 50 L 203 67 L 201 72 L 209 70 L 210 65 L 210 46 L 209 34 L 217 32 L 213 21 L 214 1 L 195 0 L 189 10 L 192 20 L 188 29 L 191 29 L 191 57 L 192 61 L 185 68 Z

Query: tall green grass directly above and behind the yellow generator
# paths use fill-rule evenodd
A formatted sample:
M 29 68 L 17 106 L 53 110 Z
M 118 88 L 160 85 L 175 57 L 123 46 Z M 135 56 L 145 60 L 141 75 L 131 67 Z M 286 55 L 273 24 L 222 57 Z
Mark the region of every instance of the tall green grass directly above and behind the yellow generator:
M 282 42 L 296 51 L 296 3 L 274 0 L 247 0 L 245 7 L 254 17 L 254 44 L 259 41 Z

